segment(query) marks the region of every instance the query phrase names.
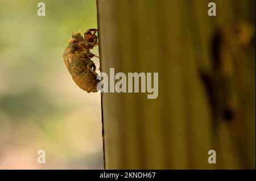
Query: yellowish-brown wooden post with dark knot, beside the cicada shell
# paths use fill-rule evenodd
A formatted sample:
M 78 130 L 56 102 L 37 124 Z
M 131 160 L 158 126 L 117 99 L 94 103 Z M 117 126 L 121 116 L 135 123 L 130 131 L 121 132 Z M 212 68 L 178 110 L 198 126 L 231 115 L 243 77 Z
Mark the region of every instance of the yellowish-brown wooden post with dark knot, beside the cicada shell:
M 255 169 L 255 1 L 214 2 L 97 0 L 101 71 L 159 76 L 102 94 L 106 169 Z

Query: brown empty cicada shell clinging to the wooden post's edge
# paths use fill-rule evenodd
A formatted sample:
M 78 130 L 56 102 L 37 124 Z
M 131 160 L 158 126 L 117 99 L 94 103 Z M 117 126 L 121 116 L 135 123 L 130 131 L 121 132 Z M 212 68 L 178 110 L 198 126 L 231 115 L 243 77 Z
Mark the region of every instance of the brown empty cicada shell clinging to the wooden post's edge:
M 97 29 L 89 29 L 82 37 L 81 33 L 73 33 L 68 40 L 68 47 L 63 53 L 65 65 L 72 76 L 73 81 L 86 92 L 97 92 L 96 66 L 91 60 L 97 57 L 90 49 L 98 45 Z

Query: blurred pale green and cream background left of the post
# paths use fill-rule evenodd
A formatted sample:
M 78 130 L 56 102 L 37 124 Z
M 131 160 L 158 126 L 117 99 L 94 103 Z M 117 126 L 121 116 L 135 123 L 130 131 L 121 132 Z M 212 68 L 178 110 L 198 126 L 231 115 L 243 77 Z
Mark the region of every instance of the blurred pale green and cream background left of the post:
M 74 27 L 97 28 L 96 1 L 45 0 L 46 16 L 38 2 L 0 1 L 0 169 L 103 169 L 100 93 L 63 61 Z

